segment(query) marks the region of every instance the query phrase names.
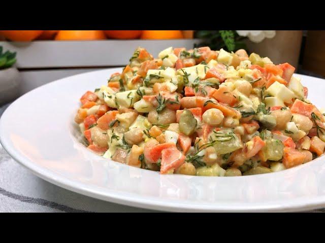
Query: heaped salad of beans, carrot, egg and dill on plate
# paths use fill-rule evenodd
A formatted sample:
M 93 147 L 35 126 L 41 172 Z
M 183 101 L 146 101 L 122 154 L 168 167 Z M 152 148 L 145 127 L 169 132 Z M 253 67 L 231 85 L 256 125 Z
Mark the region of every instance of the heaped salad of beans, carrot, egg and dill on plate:
M 80 99 L 88 148 L 161 174 L 241 176 L 311 161 L 324 114 L 288 63 L 245 50 L 137 48 L 121 73 Z

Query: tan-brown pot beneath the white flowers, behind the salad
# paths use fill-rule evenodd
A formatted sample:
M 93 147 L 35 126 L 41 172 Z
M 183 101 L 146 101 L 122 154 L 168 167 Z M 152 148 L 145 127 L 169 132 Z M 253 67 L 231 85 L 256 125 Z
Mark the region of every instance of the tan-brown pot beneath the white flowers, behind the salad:
M 277 30 L 273 38 L 265 38 L 261 43 L 253 43 L 246 39 L 249 53 L 257 53 L 269 57 L 274 64 L 288 62 L 298 67 L 302 30 Z

